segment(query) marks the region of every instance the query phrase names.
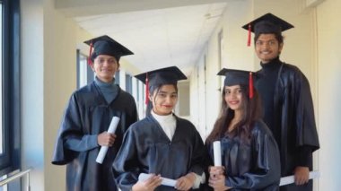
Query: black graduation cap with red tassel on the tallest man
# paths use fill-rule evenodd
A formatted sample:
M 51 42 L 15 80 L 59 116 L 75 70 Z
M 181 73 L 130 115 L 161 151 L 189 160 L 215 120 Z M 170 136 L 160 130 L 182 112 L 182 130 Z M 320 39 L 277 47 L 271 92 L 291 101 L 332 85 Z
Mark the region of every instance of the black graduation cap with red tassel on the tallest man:
M 251 32 L 254 32 L 256 35 L 260 33 L 278 33 L 281 34 L 284 30 L 289 30 L 293 28 L 293 25 L 289 22 L 285 22 L 279 17 L 276 17 L 272 13 L 266 13 L 263 16 L 258 17 L 258 19 L 249 22 L 242 26 L 243 29 L 249 30 L 248 33 L 248 46 L 251 42 Z

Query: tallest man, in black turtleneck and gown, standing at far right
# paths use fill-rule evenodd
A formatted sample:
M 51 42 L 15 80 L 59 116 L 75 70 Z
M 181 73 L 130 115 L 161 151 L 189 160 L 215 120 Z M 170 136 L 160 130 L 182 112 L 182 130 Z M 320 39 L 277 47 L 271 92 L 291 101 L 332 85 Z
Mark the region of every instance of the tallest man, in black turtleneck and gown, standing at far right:
M 280 191 L 312 191 L 309 172 L 313 170 L 312 152 L 319 149 L 319 136 L 310 84 L 296 65 L 280 59 L 282 32 L 293 29 L 293 25 L 266 13 L 242 28 L 248 30 L 248 37 L 249 31 L 255 34 L 255 53 L 261 66 L 256 89 L 261 96 L 263 120 L 280 146 L 282 177 L 293 175 L 295 179 Z

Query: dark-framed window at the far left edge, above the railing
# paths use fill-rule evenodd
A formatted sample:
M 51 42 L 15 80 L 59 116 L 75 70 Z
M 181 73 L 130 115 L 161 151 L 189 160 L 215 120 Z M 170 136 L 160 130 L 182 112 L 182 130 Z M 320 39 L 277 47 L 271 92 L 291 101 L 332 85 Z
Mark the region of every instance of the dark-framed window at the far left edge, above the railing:
M 0 176 L 20 169 L 20 0 L 0 0 Z

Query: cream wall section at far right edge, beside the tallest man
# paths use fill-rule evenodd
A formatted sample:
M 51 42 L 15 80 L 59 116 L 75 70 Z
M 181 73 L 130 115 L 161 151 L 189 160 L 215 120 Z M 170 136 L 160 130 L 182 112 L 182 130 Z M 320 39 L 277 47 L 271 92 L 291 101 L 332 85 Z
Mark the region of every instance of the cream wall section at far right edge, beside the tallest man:
M 341 187 L 341 1 L 325 0 L 317 7 L 319 100 L 319 190 Z

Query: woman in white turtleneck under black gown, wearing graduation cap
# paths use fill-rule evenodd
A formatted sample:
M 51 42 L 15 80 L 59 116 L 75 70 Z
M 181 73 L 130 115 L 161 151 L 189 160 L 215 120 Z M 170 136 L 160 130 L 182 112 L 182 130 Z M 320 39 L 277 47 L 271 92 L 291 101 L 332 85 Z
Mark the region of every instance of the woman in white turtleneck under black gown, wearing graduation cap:
M 173 112 L 179 80 L 187 77 L 176 66 L 136 75 L 146 84 L 146 117 L 129 127 L 114 161 L 122 190 L 188 190 L 204 180 L 205 147 L 196 127 Z M 134 161 L 134 162 L 132 162 Z M 139 180 L 140 173 L 150 178 Z M 174 187 L 162 179 L 176 180 Z

